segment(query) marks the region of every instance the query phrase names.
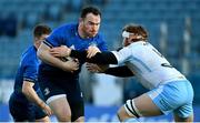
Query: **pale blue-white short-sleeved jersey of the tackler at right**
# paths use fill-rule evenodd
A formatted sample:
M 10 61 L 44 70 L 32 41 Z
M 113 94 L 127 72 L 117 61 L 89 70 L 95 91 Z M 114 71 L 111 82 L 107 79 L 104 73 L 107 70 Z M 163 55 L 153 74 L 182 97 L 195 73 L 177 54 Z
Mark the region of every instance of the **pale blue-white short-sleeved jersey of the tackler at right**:
M 160 52 L 146 41 L 133 42 L 120 51 L 112 51 L 118 63 L 126 65 L 147 89 L 154 89 L 171 81 L 186 80 Z

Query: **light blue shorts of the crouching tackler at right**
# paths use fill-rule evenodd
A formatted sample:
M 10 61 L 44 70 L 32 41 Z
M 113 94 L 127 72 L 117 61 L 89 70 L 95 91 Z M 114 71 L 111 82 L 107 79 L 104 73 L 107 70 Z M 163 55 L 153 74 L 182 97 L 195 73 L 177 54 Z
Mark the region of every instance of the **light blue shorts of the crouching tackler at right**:
M 188 80 L 159 85 L 148 92 L 148 95 L 164 114 L 174 112 L 180 117 L 193 114 L 193 89 Z

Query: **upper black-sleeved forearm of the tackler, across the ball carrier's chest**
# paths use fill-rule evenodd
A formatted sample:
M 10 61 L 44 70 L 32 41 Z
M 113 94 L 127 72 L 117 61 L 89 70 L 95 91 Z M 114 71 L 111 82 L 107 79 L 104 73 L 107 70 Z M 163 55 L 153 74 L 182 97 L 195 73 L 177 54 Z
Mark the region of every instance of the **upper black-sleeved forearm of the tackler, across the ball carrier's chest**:
M 91 59 L 87 58 L 87 51 L 77 51 L 71 50 L 70 57 L 77 58 L 91 63 L 100 63 L 100 64 L 117 64 L 117 58 L 112 52 L 98 52 Z

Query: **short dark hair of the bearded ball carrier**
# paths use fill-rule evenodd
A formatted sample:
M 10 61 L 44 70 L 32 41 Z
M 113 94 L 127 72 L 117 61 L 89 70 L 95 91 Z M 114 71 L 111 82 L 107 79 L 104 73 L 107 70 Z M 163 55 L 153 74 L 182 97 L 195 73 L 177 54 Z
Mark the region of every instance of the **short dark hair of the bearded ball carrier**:
M 101 17 L 100 10 L 97 7 L 93 7 L 93 6 L 84 7 L 81 10 L 80 17 L 86 18 L 88 13 L 93 13 L 94 16 L 100 16 Z

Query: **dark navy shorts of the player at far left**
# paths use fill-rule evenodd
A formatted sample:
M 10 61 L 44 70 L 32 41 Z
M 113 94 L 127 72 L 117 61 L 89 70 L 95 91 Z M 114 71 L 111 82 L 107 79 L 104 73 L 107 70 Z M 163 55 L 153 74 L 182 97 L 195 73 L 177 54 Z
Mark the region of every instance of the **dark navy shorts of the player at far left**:
M 10 96 L 9 110 L 14 122 L 34 122 L 36 120 L 47 116 L 47 114 L 36 104 L 28 101 L 19 101 L 14 93 Z

